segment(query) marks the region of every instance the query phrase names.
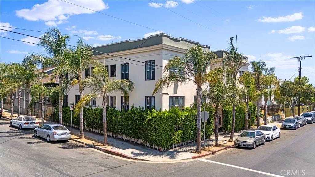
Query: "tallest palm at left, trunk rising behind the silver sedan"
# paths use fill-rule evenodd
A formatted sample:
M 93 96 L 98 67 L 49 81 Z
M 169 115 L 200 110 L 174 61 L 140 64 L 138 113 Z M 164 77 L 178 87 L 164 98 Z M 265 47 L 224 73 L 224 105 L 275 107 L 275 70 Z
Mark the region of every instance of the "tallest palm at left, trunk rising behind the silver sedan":
M 50 63 L 51 66 L 57 67 L 57 70 L 54 70 L 54 76 L 57 76 L 59 79 L 59 123 L 62 124 L 62 104 L 66 91 L 63 82 L 68 72 L 66 68 L 71 66 L 70 62 L 67 62 L 65 57 L 67 50 L 66 43 L 69 42 L 70 37 L 68 35 L 63 36 L 57 28 L 50 28 L 41 38 L 42 39 L 38 42 L 39 47 L 44 48 L 53 59 L 54 62 Z M 44 67 L 47 67 L 47 65 Z M 54 77 L 51 79 L 54 79 Z

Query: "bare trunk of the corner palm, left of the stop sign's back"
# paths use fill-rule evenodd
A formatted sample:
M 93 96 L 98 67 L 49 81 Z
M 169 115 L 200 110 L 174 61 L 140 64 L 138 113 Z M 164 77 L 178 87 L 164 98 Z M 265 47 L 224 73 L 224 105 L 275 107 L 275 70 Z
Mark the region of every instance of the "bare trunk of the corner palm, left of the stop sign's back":
M 201 153 L 201 95 L 202 88 L 197 87 L 197 147 L 195 153 Z

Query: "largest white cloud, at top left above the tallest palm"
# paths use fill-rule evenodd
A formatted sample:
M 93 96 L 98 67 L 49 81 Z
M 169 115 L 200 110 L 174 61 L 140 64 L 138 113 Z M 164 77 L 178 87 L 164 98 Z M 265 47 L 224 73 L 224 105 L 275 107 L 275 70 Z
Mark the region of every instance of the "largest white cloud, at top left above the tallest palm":
M 58 0 L 49 0 L 43 4 L 36 4 L 32 9 L 21 9 L 17 10 L 16 15 L 22 17 L 25 20 L 29 21 L 45 21 L 47 26 L 57 26 L 62 23 L 66 23 L 71 15 L 78 14 L 93 14 L 95 11 L 101 11 L 108 9 L 108 5 L 105 4 L 102 0 L 94 1 L 68 1 L 70 3 L 77 4 L 82 7 L 72 5 L 63 1 Z

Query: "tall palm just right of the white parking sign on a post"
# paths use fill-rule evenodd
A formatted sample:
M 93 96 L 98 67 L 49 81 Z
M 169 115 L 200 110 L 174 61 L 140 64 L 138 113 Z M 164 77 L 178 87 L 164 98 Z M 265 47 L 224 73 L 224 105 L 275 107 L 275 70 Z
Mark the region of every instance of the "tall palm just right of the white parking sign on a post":
M 83 97 L 83 89 L 85 85 L 82 83 L 83 80 L 83 71 L 85 71 L 85 68 L 88 67 L 89 61 L 91 60 L 91 56 L 93 52 L 90 50 L 91 47 L 86 45 L 84 43 L 84 39 L 81 37 L 77 41 L 77 48 L 72 49 L 74 52 L 72 53 L 72 66 L 74 66 L 74 69 L 77 71 L 75 74 L 74 79 L 71 82 L 71 85 L 78 84 L 79 85 L 79 93 L 80 98 Z M 83 139 L 83 107 L 80 110 L 80 136 L 79 139 Z

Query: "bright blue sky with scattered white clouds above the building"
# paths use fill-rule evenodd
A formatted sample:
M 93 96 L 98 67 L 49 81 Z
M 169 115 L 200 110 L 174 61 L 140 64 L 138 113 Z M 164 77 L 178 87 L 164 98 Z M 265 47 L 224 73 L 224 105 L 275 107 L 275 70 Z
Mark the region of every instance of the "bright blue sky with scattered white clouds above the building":
M 2 29 L 40 37 L 51 27 L 86 43 L 99 46 L 166 33 L 201 44 L 210 50 L 228 49 L 237 37 L 238 52 L 249 60 L 275 67 L 278 78 L 301 75 L 315 84 L 315 1 L 0 1 Z M 88 9 L 85 9 L 85 8 Z M 95 11 L 100 13 L 97 13 Z M 38 39 L 1 31 L 1 62 L 21 62 L 29 53 L 44 53 Z M 6 39 L 8 37 L 11 39 Z

